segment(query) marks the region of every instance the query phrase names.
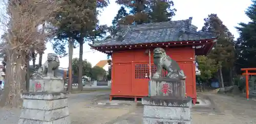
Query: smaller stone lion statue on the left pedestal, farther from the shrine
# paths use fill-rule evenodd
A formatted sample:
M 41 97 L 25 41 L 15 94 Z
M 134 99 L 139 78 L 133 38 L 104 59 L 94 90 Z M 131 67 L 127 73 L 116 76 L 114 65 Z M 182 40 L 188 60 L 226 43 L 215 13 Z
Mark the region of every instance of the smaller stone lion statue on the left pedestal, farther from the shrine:
M 55 70 L 59 67 L 59 58 L 56 54 L 49 53 L 47 55 L 47 61 L 40 67 L 42 74 L 47 77 L 57 77 Z

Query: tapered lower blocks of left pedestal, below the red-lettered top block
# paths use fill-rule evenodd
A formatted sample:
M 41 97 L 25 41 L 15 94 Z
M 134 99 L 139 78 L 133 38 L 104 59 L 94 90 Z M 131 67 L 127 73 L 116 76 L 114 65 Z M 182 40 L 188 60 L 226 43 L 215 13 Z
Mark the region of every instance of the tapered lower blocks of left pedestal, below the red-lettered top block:
M 70 124 L 68 98 L 61 92 L 26 92 L 18 124 Z

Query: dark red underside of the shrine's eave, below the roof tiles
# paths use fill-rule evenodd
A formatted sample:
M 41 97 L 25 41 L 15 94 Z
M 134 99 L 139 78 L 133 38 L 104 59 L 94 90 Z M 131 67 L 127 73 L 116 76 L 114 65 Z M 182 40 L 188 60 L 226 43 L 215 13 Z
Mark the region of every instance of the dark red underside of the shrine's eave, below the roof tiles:
M 126 51 L 130 49 L 141 48 L 155 48 L 155 47 L 186 47 L 191 46 L 195 48 L 196 55 L 206 55 L 214 46 L 216 38 L 203 39 L 197 41 L 169 41 L 169 42 L 154 42 L 154 43 L 141 43 L 141 44 L 120 44 L 120 45 L 101 45 L 94 46 L 89 44 L 93 49 L 105 54 L 111 54 L 116 51 Z

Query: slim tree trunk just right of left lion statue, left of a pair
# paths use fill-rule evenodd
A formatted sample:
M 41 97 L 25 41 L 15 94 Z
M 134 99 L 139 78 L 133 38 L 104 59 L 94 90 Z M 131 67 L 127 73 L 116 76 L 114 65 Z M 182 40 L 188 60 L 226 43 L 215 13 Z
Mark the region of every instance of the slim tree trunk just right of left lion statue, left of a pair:
M 69 38 L 69 83 L 68 83 L 68 92 L 72 91 L 72 58 L 73 58 L 73 48 L 74 48 L 74 40 Z

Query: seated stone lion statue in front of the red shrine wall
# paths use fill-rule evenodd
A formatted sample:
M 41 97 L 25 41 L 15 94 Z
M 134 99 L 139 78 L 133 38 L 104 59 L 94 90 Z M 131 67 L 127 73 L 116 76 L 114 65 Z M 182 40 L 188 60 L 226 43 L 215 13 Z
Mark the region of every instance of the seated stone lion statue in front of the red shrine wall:
M 186 79 L 178 63 L 167 56 L 163 48 L 158 47 L 154 49 L 154 64 L 157 66 L 157 71 L 153 75 L 153 78 L 160 78 L 162 76 L 162 70 L 165 69 L 168 72 L 166 75 L 168 78 Z

